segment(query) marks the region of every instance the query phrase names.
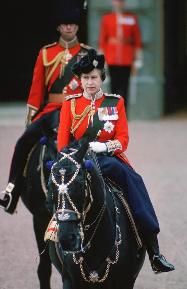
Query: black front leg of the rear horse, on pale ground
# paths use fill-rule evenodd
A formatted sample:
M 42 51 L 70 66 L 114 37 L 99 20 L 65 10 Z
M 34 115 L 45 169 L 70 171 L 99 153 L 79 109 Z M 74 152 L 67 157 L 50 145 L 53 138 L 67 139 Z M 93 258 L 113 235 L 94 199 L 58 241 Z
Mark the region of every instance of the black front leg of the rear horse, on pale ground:
M 45 214 L 33 216 L 34 230 L 39 253 L 41 253 L 46 246 L 46 243 L 44 242 L 44 234 L 50 218 L 51 216 L 45 218 Z M 50 289 L 51 259 L 49 257 L 48 248 L 46 248 L 45 252 L 40 255 L 40 263 L 37 273 L 40 281 L 40 289 Z

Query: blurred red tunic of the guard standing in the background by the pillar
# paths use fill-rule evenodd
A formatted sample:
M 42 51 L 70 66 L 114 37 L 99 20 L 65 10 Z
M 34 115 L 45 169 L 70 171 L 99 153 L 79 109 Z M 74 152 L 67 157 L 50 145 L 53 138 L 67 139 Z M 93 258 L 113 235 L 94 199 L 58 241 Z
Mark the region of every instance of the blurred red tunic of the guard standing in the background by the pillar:
M 104 15 L 99 47 L 108 65 L 131 66 L 134 49 L 141 48 L 137 17 L 129 13 Z

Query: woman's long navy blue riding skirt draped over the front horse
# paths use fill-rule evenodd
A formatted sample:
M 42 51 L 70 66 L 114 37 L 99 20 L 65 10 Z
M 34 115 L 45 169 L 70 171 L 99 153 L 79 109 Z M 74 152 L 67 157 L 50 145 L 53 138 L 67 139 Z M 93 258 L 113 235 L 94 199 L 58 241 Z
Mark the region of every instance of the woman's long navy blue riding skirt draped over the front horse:
M 126 194 L 133 218 L 143 234 L 158 234 L 159 223 L 143 179 L 117 156 L 98 156 L 103 177 L 108 177 Z

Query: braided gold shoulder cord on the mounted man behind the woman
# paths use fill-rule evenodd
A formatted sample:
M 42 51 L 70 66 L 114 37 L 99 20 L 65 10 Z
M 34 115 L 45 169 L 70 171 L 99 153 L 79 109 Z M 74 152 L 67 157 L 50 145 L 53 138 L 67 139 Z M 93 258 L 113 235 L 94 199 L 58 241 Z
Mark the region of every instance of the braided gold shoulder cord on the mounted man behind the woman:
M 64 51 L 60 51 L 53 60 L 50 62 L 47 62 L 47 50 L 44 48 L 42 50 L 42 59 L 43 59 L 43 65 L 45 66 L 45 86 L 48 85 L 49 79 L 55 72 L 58 64 L 61 62 L 61 70 L 60 70 L 60 78 L 62 77 L 63 74 L 63 68 L 65 68 L 65 65 L 68 63 L 68 57 L 69 57 L 69 51 L 68 49 Z M 54 64 L 54 65 L 53 65 Z M 53 68 L 49 72 L 49 67 L 53 65 Z M 49 72 L 49 74 L 48 74 Z M 47 75 L 48 74 L 48 75 Z

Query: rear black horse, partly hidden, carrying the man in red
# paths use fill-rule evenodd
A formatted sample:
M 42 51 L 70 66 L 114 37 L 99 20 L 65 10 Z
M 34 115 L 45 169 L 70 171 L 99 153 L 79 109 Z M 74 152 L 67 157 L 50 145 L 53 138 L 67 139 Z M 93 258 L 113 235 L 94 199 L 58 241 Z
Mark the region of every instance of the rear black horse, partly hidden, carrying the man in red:
M 39 141 L 29 155 L 21 193 L 24 205 L 33 214 L 33 225 L 39 253 L 46 246 L 44 234 L 52 216 L 46 207 L 46 185 L 50 174 L 50 171 L 46 168 L 46 163 L 51 157 L 45 147 L 45 139 L 42 142 Z M 37 270 L 40 289 L 50 289 L 51 259 L 48 250 L 45 250 L 38 260 L 40 260 Z

